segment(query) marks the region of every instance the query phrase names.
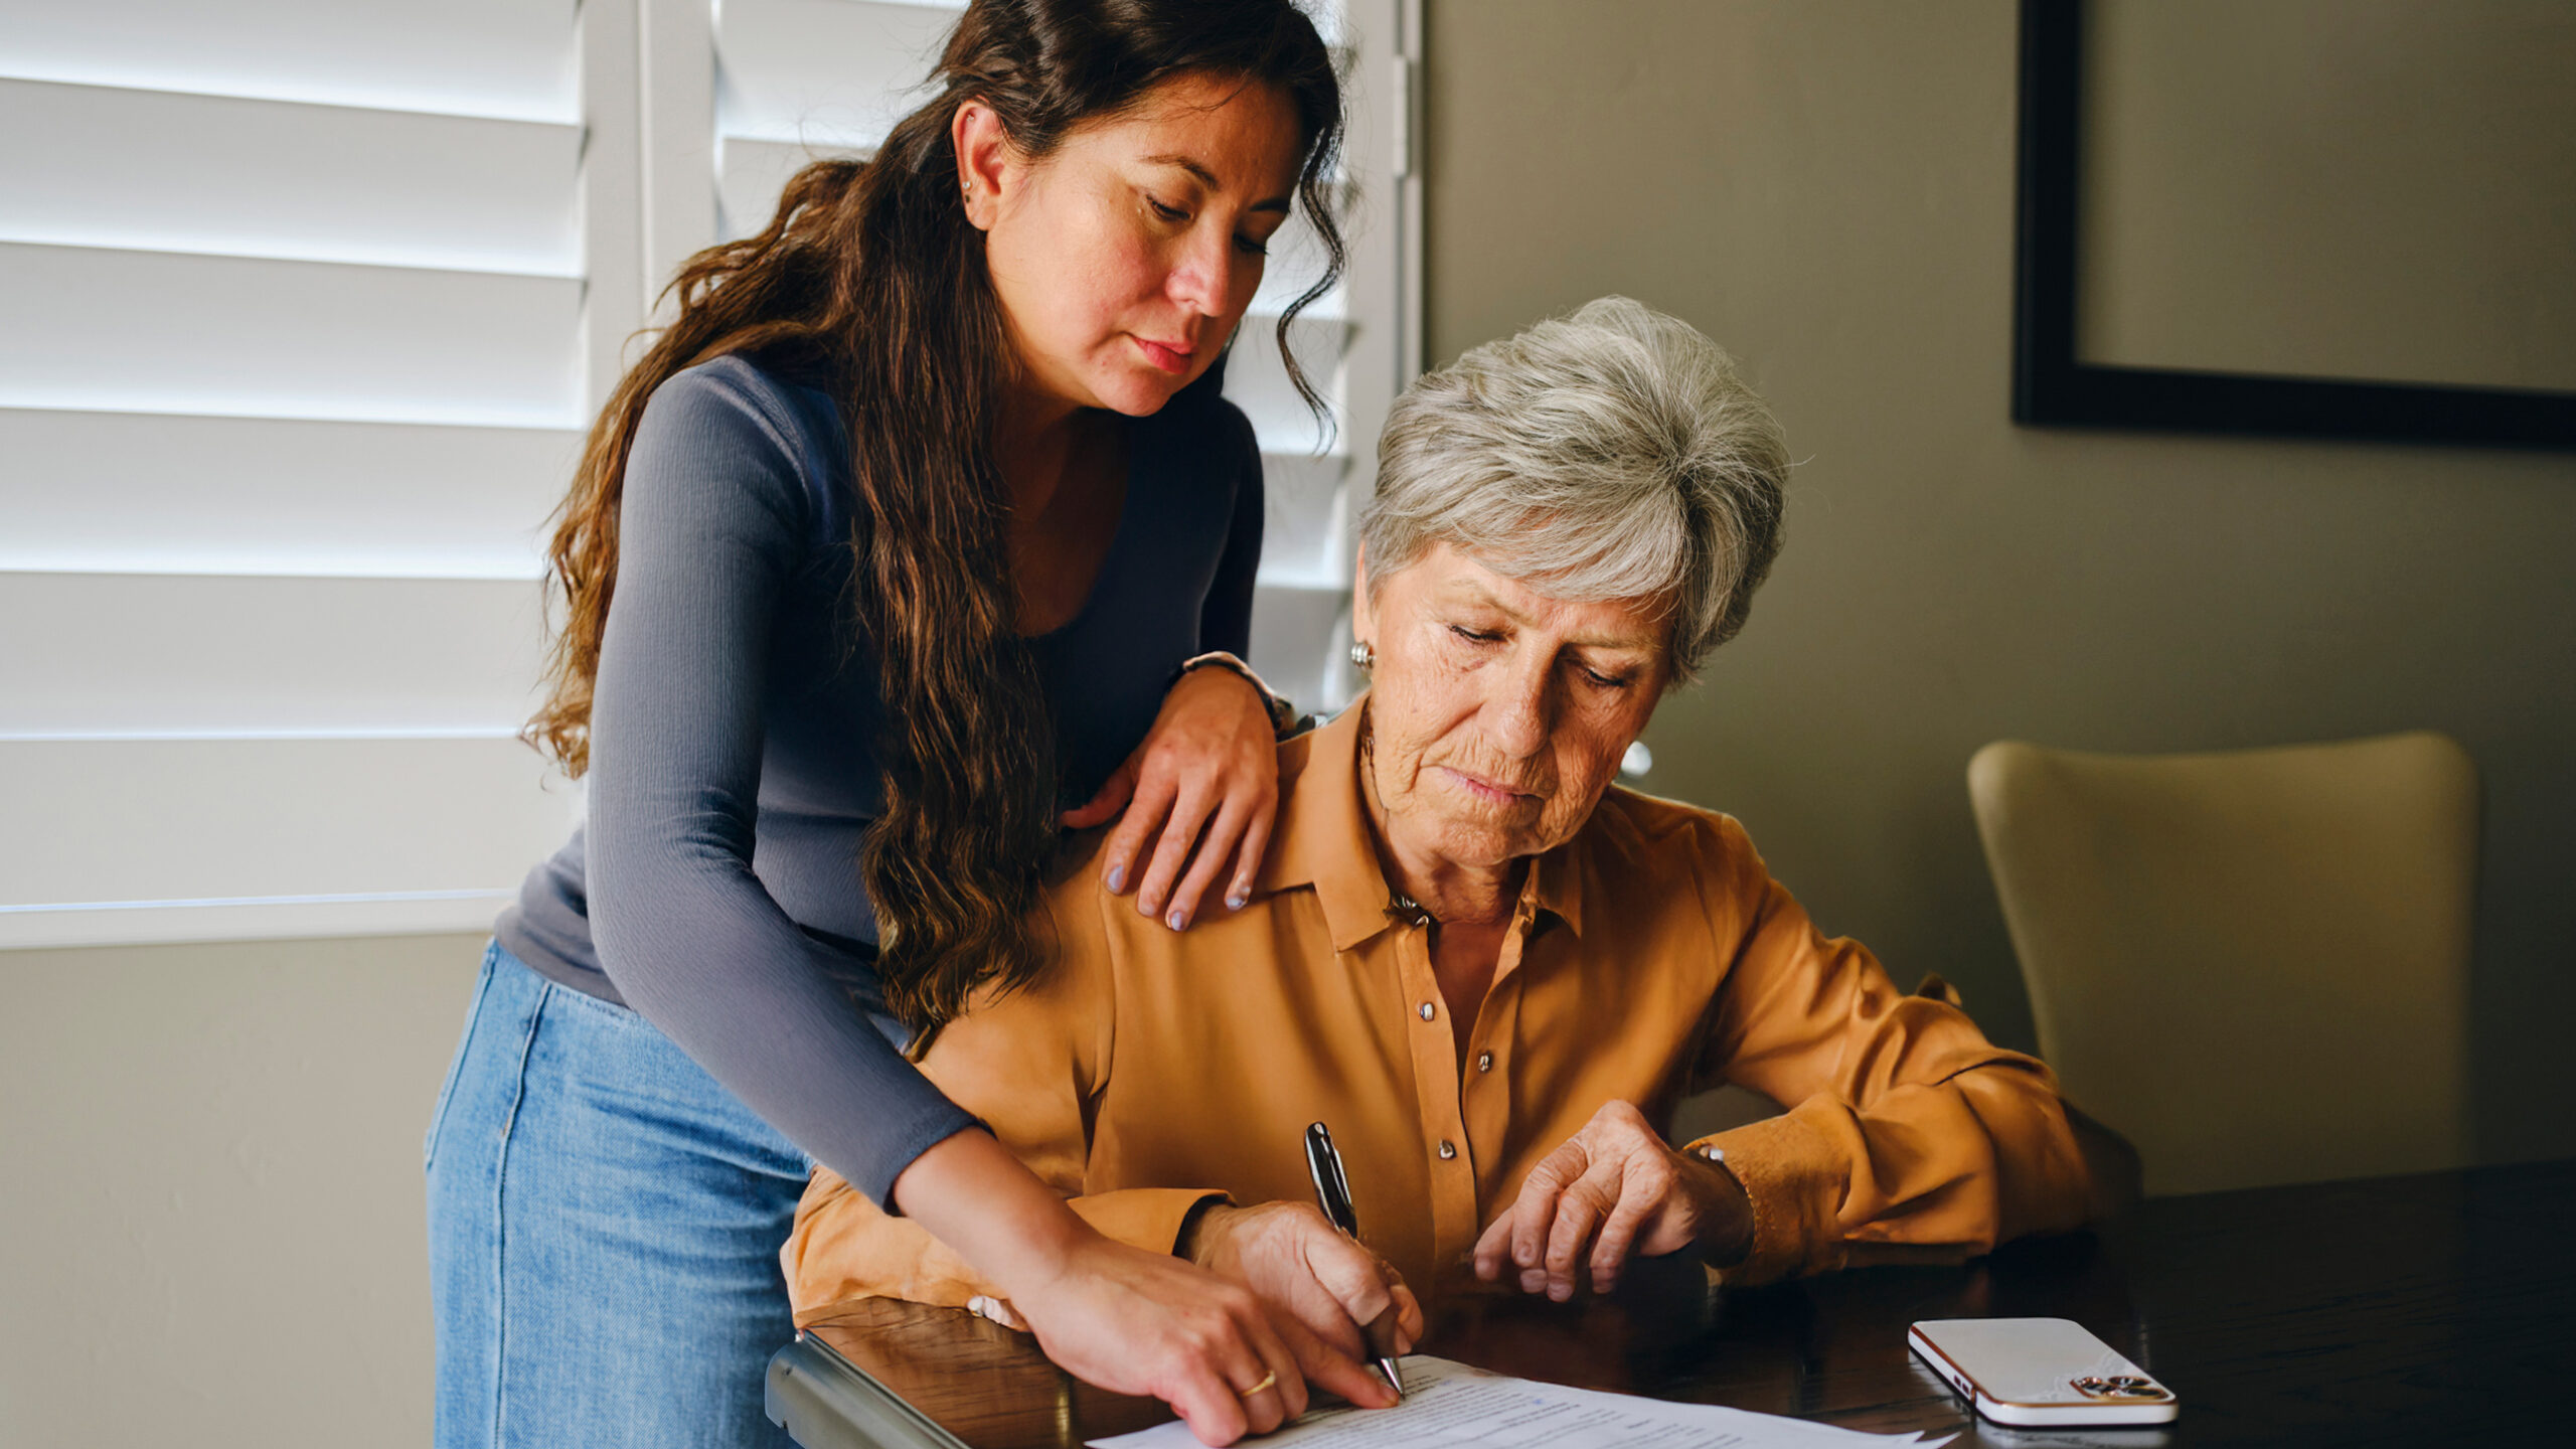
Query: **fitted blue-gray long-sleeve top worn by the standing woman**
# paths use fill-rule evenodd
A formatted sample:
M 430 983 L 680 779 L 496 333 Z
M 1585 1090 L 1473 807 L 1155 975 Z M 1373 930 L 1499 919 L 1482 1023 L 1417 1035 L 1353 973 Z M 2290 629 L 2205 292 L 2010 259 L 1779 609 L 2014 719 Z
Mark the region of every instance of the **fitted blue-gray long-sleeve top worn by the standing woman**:
M 974 1119 L 850 993 L 876 980 L 858 853 L 881 807 L 853 508 L 824 392 L 744 358 L 654 389 L 626 464 L 587 822 L 495 933 L 639 1011 L 884 1204 Z M 1231 402 L 1200 384 L 1128 423 L 1115 541 L 1082 611 L 1036 639 L 1066 802 L 1144 740 L 1175 665 L 1247 650 L 1260 549 L 1260 451 Z

